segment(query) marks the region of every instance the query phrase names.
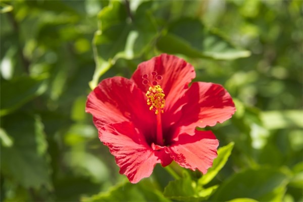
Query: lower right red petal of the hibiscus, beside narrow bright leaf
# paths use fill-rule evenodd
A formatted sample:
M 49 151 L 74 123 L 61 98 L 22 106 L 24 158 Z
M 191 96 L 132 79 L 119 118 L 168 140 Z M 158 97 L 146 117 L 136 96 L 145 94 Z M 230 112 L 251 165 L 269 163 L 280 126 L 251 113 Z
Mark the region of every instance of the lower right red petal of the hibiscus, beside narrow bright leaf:
M 212 131 L 195 131 L 193 136 L 182 134 L 166 151 L 180 166 L 191 170 L 198 169 L 203 174 L 212 167 L 217 157 L 219 141 Z

